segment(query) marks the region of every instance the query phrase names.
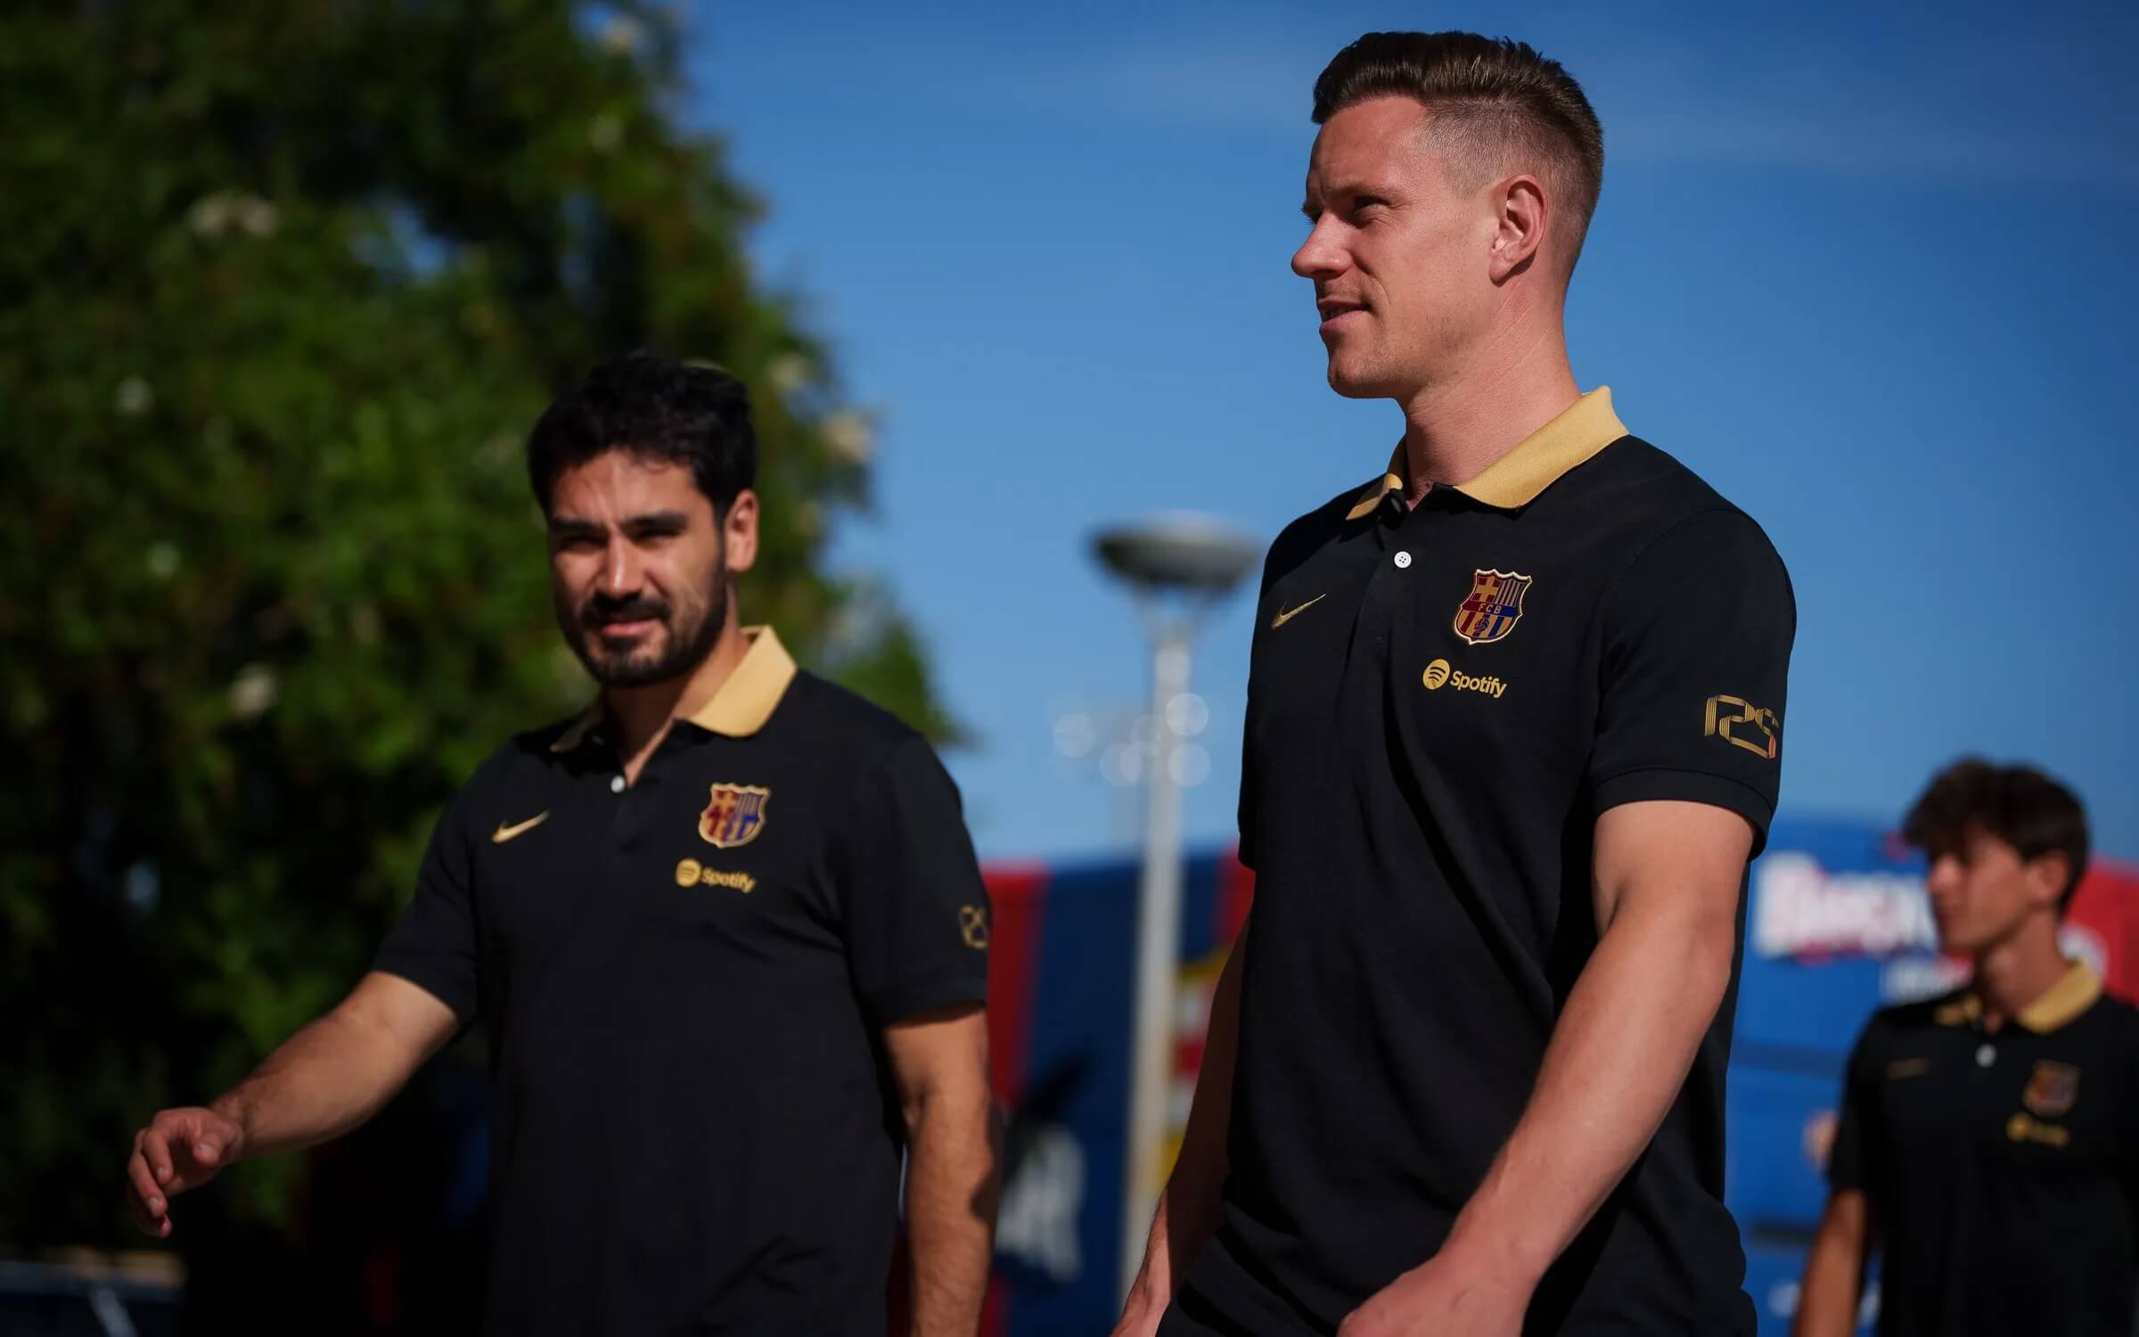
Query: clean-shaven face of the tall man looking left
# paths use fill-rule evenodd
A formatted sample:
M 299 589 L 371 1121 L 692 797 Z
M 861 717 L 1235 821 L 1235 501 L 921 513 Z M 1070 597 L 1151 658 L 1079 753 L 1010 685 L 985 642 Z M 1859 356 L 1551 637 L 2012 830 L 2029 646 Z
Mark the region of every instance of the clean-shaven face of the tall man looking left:
M 1390 96 L 1324 122 L 1307 163 L 1313 229 L 1292 272 L 1315 285 L 1330 389 L 1407 400 L 1446 376 L 1493 310 L 1489 184 L 1459 190 L 1427 109 Z

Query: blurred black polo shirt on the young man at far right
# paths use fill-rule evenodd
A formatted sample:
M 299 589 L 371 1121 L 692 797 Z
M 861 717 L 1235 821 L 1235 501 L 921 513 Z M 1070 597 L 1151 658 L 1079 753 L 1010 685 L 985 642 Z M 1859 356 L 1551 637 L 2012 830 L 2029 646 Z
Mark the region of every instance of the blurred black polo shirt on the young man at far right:
M 1872 1016 L 1835 1189 L 1880 1236 L 1880 1337 L 2130 1337 L 2139 1012 L 2073 965 L 1996 1031 L 1968 990 Z

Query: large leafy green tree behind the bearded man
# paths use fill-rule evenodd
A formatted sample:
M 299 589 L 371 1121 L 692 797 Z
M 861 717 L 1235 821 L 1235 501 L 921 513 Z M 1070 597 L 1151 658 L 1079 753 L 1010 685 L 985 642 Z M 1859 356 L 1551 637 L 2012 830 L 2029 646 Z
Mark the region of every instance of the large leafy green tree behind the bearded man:
M 866 421 L 678 98 L 640 4 L 0 17 L 0 1243 L 124 1239 L 130 1129 L 329 1005 L 456 783 L 586 702 L 520 443 L 590 362 L 753 387 L 747 614 L 948 729 L 824 571 Z

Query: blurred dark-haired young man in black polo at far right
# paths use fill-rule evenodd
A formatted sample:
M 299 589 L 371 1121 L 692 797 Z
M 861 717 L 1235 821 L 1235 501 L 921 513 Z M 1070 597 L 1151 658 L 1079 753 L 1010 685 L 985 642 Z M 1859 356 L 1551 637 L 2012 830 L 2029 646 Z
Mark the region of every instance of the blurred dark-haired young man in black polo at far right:
M 1880 1337 L 2130 1337 L 2139 1010 L 2058 946 L 2086 813 L 2032 766 L 1964 759 L 1902 834 L 1972 973 L 1857 1038 L 1795 1333 L 1855 1333 L 1876 1254 Z

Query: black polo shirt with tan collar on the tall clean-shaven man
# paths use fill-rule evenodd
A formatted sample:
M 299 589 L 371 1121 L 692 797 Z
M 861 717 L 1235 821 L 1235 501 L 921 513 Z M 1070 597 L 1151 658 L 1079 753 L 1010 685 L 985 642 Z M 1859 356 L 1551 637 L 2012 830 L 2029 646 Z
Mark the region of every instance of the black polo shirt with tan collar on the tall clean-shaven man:
M 1792 633 L 1760 528 L 1628 436 L 1604 389 L 1469 483 L 1405 507 L 1390 473 L 1279 535 L 1241 779 L 1230 1174 L 1189 1320 L 1326 1333 L 1433 1256 L 1596 946 L 1598 815 L 1692 800 L 1765 834 Z M 1754 1331 L 1722 1204 L 1735 995 L 1733 969 L 1529 1331 Z

